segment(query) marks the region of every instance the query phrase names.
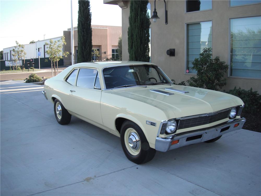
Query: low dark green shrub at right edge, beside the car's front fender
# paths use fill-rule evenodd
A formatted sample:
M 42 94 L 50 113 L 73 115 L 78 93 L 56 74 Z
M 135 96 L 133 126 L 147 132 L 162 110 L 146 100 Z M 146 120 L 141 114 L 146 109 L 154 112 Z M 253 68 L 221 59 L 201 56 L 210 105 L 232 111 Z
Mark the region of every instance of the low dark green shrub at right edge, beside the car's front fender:
M 235 87 L 233 90 L 225 91 L 225 93 L 235 95 L 242 99 L 245 103 L 244 112 L 255 113 L 261 108 L 261 95 L 259 95 L 257 91 L 253 91 L 252 88 L 250 90 L 244 90 L 240 87 L 238 89 Z

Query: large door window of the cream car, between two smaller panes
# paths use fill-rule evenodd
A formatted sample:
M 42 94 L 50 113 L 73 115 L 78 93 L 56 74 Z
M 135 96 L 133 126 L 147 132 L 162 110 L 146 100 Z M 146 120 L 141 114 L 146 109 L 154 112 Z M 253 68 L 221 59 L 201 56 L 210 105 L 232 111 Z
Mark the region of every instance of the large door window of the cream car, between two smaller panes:
M 84 88 L 92 88 L 96 77 L 97 70 L 93 69 L 80 69 L 76 86 Z

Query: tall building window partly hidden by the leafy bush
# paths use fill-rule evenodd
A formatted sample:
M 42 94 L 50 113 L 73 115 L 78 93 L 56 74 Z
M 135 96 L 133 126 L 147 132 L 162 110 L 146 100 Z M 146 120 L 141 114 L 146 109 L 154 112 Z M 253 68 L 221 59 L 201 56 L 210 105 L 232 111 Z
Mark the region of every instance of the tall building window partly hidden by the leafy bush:
M 187 54 L 186 72 L 197 73 L 192 70 L 192 62 L 204 48 L 212 47 L 212 21 L 187 24 Z

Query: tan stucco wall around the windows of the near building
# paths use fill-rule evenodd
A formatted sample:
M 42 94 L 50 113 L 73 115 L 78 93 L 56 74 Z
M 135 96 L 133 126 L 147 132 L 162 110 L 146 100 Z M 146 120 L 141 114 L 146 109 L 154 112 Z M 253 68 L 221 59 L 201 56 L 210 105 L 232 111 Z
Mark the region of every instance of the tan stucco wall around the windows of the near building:
M 151 14 L 154 1 L 151 3 Z M 104 3 L 118 4 L 122 7 L 122 59 L 128 60 L 128 17 L 130 1 L 104 1 Z M 212 9 L 185 13 L 185 1 L 166 1 L 168 10 L 168 24 L 165 25 L 164 2 L 156 1 L 156 9 L 160 19 L 151 21 L 151 62 L 159 65 L 176 83 L 187 81 L 195 74 L 186 73 L 186 32 L 187 23 L 212 21 L 212 49 L 213 57 L 220 56 L 221 61 L 229 64 L 229 19 L 260 16 L 261 5 L 244 5 L 229 7 L 229 1 L 212 1 Z M 122 6 L 124 4 L 124 6 Z M 175 48 L 175 56 L 170 57 L 166 51 Z M 253 88 L 261 94 L 261 80 L 228 75 L 225 90 L 235 86 L 241 89 Z

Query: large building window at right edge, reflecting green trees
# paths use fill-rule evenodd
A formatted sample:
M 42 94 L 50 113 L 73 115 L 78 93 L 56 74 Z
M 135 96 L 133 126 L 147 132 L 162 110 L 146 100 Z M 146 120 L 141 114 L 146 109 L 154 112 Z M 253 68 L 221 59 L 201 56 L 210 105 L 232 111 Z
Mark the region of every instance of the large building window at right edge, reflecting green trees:
M 261 16 L 230 19 L 230 76 L 261 78 Z

